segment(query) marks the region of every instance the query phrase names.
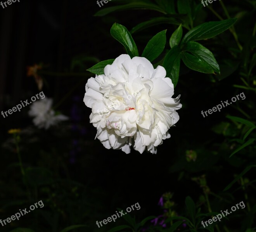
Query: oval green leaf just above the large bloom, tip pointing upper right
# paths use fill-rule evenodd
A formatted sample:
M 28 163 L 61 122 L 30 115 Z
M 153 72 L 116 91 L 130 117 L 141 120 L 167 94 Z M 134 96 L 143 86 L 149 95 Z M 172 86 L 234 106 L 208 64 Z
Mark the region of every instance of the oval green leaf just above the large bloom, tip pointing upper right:
M 155 60 L 164 50 L 166 44 L 166 30 L 157 33 L 145 47 L 142 57 L 147 58 L 150 62 Z

